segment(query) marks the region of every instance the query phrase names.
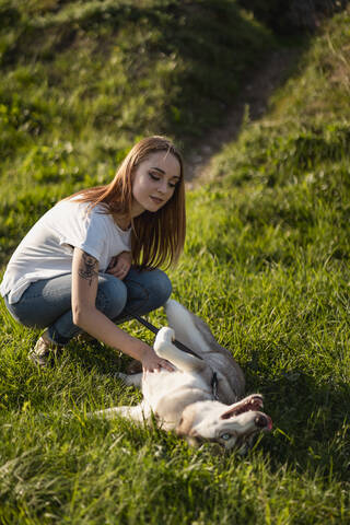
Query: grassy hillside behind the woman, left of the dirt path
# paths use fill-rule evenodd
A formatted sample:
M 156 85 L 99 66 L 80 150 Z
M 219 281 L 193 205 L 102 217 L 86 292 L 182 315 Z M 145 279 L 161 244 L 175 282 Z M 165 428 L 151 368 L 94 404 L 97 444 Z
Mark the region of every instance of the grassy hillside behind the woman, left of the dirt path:
M 186 149 L 276 45 L 229 0 L 13 0 L 0 20 L 2 262 L 58 198 L 109 180 L 136 139 Z

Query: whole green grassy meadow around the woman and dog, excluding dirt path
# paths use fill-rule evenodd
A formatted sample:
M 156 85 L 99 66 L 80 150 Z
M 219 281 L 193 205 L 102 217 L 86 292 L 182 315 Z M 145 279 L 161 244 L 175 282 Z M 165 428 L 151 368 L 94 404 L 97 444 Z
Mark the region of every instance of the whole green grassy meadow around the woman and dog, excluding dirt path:
M 164 132 L 188 154 L 247 71 L 296 48 L 267 113 L 247 108 L 187 192 L 186 249 L 168 272 L 247 393 L 264 394 L 273 430 L 242 457 L 90 419 L 139 399 L 115 377 L 126 357 L 75 340 L 36 370 L 38 331 L 1 301 L 0 523 L 350 523 L 350 10 L 283 39 L 235 1 L 135 3 L 0 2 L 1 269 L 46 209 L 109 180 L 136 139 Z

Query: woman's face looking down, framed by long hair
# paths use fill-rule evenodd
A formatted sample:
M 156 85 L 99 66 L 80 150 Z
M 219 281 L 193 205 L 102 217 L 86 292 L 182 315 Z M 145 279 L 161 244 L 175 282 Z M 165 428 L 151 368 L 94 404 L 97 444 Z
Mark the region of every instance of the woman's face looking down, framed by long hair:
M 132 217 L 145 210 L 160 210 L 173 197 L 179 179 L 180 165 L 176 156 L 165 151 L 151 153 L 132 177 Z

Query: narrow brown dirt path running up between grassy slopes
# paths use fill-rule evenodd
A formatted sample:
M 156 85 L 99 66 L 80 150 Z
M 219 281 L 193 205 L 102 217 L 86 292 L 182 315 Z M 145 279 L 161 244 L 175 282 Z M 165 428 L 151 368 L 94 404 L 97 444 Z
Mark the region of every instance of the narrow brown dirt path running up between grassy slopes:
M 223 125 L 207 133 L 203 141 L 194 148 L 192 154 L 187 158 L 185 173 L 188 189 L 192 189 L 199 182 L 210 177 L 213 156 L 226 143 L 237 138 L 247 106 L 252 121 L 261 118 L 271 94 L 287 80 L 300 55 L 301 51 L 295 49 L 275 51 L 258 70 L 247 78 L 241 94 L 229 108 Z

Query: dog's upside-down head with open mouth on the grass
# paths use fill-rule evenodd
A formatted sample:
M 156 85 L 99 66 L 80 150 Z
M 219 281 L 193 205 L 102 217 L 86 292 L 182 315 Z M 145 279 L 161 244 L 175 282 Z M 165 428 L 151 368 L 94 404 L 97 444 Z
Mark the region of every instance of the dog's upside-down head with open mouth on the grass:
M 242 450 L 257 432 L 272 429 L 271 418 L 261 409 L 259 394 L 230 407 L 218 401 L 195 402 L 184 410 L 177 433 L 195 446 L 209 441 L 226 451 Z

